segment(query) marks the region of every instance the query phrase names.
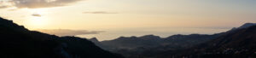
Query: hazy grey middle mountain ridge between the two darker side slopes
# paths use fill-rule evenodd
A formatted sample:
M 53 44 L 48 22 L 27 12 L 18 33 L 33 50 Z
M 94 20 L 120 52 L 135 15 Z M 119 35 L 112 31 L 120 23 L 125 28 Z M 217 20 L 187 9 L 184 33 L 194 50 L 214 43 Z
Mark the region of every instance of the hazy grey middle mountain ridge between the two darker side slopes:
M 157 53 L 162 51 L 188 49 L 197 44 L 202 44 L 212 40 L 213 38 L 217 38 L 221 34 L 222 33 L 213 35 L 177 34 L 168 38 L 160 38 L 159 36 L 154 35 L 145 35 L 142 37 L 119 37 L 95 44 L 103 49 L 125 55 L 127 58 L 142 58 L 142 56 L 143 58 L 148 58 L 152 55 L 158 55 Z

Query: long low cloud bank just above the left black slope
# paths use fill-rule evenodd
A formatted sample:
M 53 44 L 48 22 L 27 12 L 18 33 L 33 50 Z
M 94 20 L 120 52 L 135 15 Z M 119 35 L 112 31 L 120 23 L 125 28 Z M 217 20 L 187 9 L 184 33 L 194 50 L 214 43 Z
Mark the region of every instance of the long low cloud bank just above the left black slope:
M 57 36 L 77 36 L 77 35 L 85 35 L 85 34 L 99 34 L 103 32 L 103 31 L 69 30 L 69 29 L 52 29 L 52 30 L 39 29 L 36 31 L 55 34 Z

